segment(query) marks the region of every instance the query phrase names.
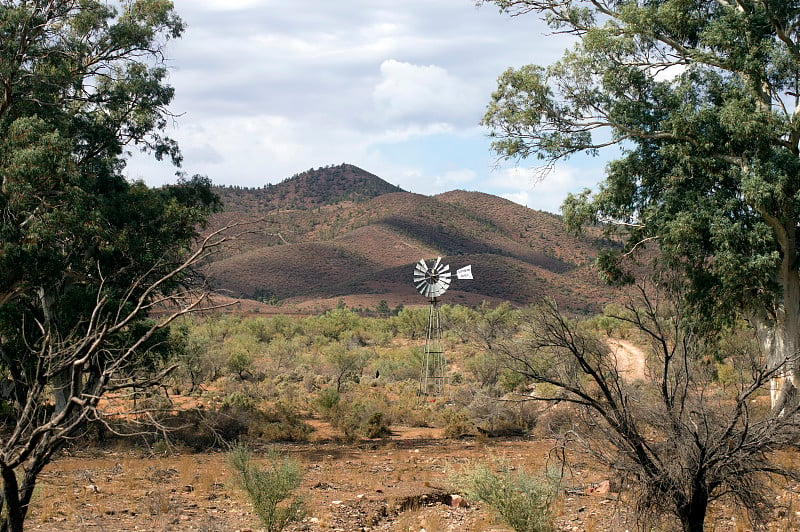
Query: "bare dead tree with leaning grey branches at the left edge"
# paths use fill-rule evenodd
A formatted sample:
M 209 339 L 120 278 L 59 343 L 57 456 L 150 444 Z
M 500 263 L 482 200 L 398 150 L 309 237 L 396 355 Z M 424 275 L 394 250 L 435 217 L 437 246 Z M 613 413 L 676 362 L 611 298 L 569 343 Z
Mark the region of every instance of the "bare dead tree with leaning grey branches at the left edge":
M 138 371 L 153 347 L 151 340 L 179 316 L 211 308 L 207 292 L 191 282 L 162 290 L 177 276 L 186 276 L 225 240 L 226 227 L 209 234 L 188 255 L 168 268 L 139 276 L 122 297 L 110 298 L 103 272 L 98 271 L 94 306 L 71 330 L 64 332 L 47 319 L 37 319 L 28 353 L 14 356 L 0 342 L 3 369 L 13 383 L 17 413 L 0 434 L 0 475 L 4 519 L 0 530 L 22 530 L 39 473 L 90 421 L 104 423 L 101 401 L 158 386 L 173 368 L 157 373 Z M 166 258 L 165 258 L 166 260 Z M 163 265 L 162 265 L 163 266 Z M 142 321 L 142 316 L 151 319 Z M 18 343 L 19 344 L 19 343 Z M 155 421 L 147 410 L 127 412 L 130 419 Z

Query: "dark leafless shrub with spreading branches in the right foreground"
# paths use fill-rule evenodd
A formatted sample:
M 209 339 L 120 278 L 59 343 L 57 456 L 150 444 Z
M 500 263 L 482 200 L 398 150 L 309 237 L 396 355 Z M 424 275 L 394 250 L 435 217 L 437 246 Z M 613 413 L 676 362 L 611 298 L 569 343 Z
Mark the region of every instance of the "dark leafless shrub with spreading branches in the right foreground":
M 770 481 L 797 476 L 774 452 L 797 441 L 800 412 L 770 408 L 767 393 L 795 360 L 767 364 L 755 338 L 707 342 L 663 294 L 639 287 L 637 296 L 616 318 L 649 344 L 646 382 L 621 377 L 607 343 L 552 301 L 531 311 L 524 339 L 503 353 L 532 383 L 557 390 L 535 399 L 574 405 L 568 436 L 635 486 L 628 493 L 640 516 L 672 515 L 700 532 L 709 504 L 726 498 L 760 526 L 774 500 Z M 735 393 L 714 382 L 715 357 L 735 359 Z

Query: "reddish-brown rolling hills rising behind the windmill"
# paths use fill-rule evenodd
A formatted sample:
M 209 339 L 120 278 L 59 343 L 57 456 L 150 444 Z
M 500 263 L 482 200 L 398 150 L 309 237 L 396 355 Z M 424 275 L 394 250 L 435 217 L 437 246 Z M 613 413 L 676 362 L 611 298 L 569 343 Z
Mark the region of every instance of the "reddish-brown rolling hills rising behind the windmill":
M 310 170 L 259 189 L 220 188 L 225 212 L 212 229 L 249 221 L 252 232 L 207 267 L 212 285 L 281 310 L 419 305 L 414 263 L 442 256 L 472 265 L 444 303 L 519 304 L 543 296 L 578 312 L 613 297 L 592 268 L 599 235 L 569 234 L 560 217 L 480 192 L 401 191 L 352 165 Z

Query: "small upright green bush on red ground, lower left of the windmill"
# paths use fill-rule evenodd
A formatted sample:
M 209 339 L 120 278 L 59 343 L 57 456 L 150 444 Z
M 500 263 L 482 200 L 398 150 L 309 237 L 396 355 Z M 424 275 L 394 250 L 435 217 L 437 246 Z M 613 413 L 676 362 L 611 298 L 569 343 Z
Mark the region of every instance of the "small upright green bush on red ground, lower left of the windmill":
M 295 495 L 302 475 L 297 462 L 277 453 L 267 455 L 267 466 L 253 463 L 253 452 L 236 445 L 228 452 L 228 463 L 236 470 L 239 485 L 247 492 L 268 532 L 283 530 L 305 515 L 303 500 Z

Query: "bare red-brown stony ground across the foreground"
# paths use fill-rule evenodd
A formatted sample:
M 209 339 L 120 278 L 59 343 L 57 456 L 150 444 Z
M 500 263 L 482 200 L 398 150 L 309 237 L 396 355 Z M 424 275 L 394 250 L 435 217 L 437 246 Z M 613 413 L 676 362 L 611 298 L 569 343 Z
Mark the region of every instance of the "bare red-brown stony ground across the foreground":
M 529 472 L 554 465 L 551 444 L 530 438 L 446 440 L 434 429 L 348 445 L 280 445 L 303 466 L 308 516 L 294 531 L 503 531 L 488 508 L 460 501 L 452 479 L 471 464 L 503 460 Z M 561 531 L 636 530 L 607 475 L 572 460 L 556 505 Z M 782 499 L 771 530 L 793 530 L 800 512 Z M 796 503 L 795 503 L 796 505 Z M 708 530 L 745 531 L 741 512 L 715 508 Z M 37 488 L 30 530 L 257 531 L 223 453 L 148 456 L 141 451 L 65 453 Z

